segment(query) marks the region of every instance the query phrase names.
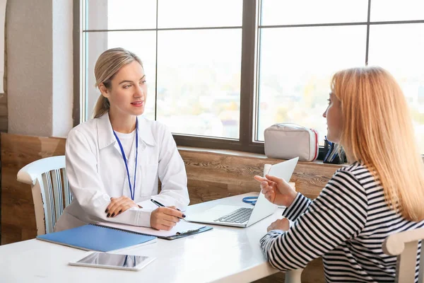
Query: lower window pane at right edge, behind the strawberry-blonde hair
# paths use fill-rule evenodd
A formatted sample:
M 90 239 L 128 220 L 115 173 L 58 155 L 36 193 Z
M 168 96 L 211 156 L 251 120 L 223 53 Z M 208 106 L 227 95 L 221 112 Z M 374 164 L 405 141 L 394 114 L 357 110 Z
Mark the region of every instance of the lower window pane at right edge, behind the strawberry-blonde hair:
M 424 23 L 370 27 L 370 65 L 393 74 L 410 107 L 416 139 L 424 154 Z

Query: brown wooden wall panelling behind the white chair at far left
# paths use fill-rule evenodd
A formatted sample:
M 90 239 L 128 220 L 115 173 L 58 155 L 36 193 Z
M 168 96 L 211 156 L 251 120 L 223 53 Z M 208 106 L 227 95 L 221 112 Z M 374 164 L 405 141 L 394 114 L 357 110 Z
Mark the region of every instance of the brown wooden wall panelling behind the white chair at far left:
M 63 155 L 65 139 L 1 134 L 1 244 L 35 238 L 30 185 L 18 183 L 23 166 L 40 158 Z

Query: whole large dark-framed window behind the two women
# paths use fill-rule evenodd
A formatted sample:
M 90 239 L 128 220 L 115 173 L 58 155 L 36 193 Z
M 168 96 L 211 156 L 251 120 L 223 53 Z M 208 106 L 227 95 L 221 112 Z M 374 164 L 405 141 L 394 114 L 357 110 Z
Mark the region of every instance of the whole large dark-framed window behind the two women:
M 81 120 L 101 52 L 141 57 L 146 116 L 179 145 L 264 152 L 264 129 L 321 118 L 334 71 L 382 66 L 411 105 L 424 154 L 422 0 L 81 0 Z M 79 121 L 78 121 L 79 122 Z

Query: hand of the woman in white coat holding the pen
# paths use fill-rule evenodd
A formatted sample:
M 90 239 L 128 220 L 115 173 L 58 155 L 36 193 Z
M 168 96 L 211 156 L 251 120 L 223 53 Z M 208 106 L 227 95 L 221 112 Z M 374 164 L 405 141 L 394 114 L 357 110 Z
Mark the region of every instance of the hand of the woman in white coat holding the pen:
M 176 207 L 158 207 L 151 214 L 151 227 L 169 231 L 184 217 L 185 215 L 179 212 Z

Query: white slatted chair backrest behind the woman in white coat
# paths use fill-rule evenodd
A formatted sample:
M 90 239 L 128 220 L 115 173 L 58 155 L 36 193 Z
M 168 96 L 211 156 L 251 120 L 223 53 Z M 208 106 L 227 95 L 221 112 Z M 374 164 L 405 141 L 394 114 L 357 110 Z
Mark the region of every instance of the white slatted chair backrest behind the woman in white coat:
M 65 156 L 42 158 L 18 172 L 18 181 L 31 185 L 37 235 L 53 232 L 57 219 L 72 201 Z

